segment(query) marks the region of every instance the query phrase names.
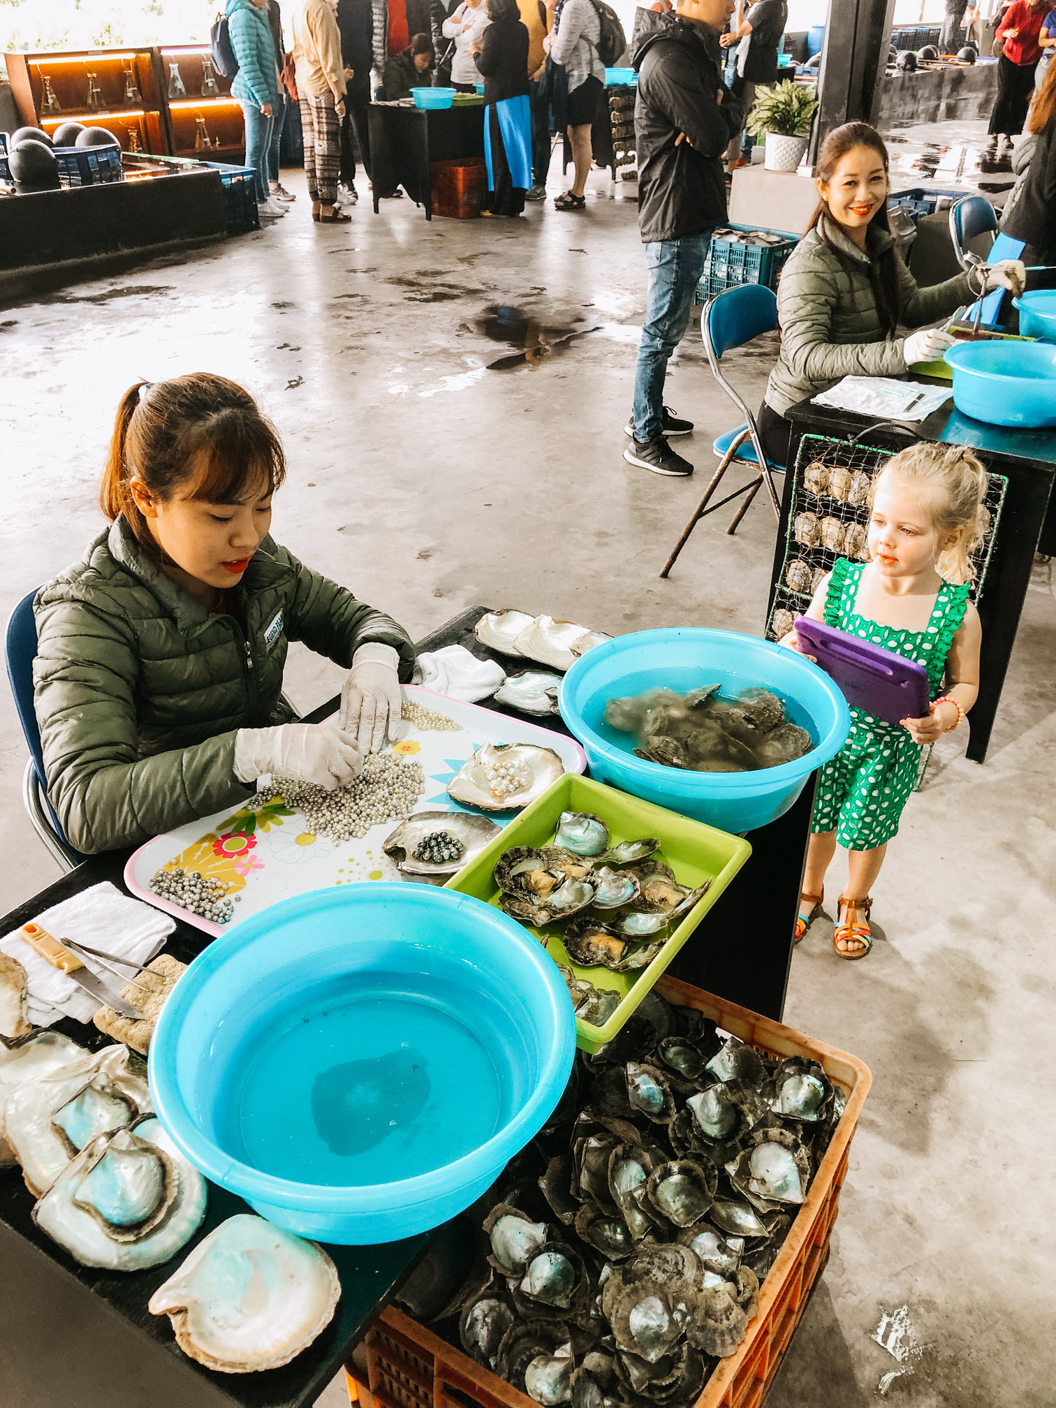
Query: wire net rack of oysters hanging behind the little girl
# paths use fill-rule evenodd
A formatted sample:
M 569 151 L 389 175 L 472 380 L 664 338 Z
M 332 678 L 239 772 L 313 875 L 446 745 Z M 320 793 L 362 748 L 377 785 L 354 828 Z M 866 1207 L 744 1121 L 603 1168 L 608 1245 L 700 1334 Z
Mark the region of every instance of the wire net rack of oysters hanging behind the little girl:
M 766 635 L 779 641 L 811 603 L 818 583 L 836 558 L 867 562 L 869 496 L 873 477 L 895 453 L 826 435 L 804 435 L 796 458 L 781 574 L 774 589 Z M 983 532 L 969 553 L 972 600 L 983 590 L 997 539 L 1008 480 L 988 473 L 983 501 Z

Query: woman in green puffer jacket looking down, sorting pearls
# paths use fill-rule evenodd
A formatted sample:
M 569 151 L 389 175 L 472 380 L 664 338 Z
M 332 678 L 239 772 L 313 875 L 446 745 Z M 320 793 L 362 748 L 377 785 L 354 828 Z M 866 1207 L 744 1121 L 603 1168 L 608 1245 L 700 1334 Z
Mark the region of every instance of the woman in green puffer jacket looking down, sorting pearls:
M 111 527 L 37 594 L 48 798 L 70 845 L 138 845 L 245 800 L 263 773 L 334 790 L 396 736 L 401 627 L 269 535 L 286 462 L 248 391 L 199 372 L 121 400 Z M 290 641 L 349 670 L 337 724 L 282 700 Z

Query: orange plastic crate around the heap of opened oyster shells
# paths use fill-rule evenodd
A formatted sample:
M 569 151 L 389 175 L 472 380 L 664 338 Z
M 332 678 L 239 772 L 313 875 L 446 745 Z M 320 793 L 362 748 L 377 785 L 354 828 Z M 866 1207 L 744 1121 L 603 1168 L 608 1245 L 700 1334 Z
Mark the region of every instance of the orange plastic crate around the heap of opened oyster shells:
M 818 1062 L 846 1101 L 807 1200 L 759 1288 L 759 1309 L 745 1338 L 735 1353 L 718 1360 L 693 1404 L 693 1408 L 760 1408 L 828 1260 L 850 1140 L 873 1077 L 857 1057 L 689 983 L 665 974 L 656 991 L 676 1007 L 696 1007 L 756 1050 Z M 538 1408 L 535 1400 L 394 1307 L 384 1309 L 369 1331 L 366 1352 L 369 1385 L 358 1384 L 363 1408 L 466 1408 L 467 1404 Z M 622 1400 L 617 1397 L 614 1402 Z

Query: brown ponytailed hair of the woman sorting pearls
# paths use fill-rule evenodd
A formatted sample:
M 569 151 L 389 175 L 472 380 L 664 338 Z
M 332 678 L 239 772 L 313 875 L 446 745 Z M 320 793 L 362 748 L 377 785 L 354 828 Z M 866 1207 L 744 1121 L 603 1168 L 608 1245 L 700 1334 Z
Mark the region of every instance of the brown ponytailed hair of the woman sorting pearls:
M 159 552 L 132 497 L 138 479 L 153 498 L 239 504 L 273 493 L 286 479 L 275 427 L 252 396 L 211 372 L 137 382 L 121 397 L 99 505 L 124 515 L 141 546 Z

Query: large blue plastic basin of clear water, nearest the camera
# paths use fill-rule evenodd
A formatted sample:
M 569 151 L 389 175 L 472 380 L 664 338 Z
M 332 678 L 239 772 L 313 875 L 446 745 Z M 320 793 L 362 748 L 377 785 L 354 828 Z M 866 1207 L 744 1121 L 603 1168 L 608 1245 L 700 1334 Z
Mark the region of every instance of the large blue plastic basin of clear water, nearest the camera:
M 183 974 L 151 1042 L 163 1128 L 277 1226 L 373 1243 L 438 1226 L 534 1138 L 576 1050 L 553 960 L 431 886 L 318 890 Z

